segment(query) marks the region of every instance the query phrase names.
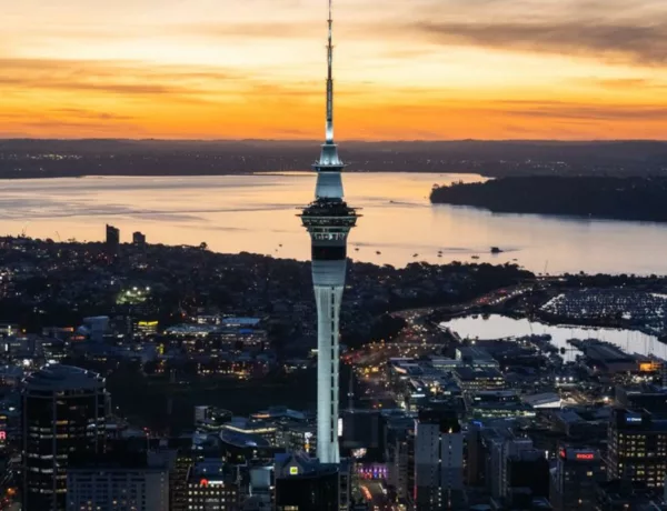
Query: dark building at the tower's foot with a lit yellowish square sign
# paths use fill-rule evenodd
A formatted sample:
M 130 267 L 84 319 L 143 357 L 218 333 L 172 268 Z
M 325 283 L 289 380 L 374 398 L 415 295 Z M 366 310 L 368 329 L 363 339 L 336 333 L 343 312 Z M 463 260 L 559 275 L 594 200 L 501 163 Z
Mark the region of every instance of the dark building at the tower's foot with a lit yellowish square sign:
M 339 511 L 339 467 L 299 452 L 276 457 L 277 511 Z

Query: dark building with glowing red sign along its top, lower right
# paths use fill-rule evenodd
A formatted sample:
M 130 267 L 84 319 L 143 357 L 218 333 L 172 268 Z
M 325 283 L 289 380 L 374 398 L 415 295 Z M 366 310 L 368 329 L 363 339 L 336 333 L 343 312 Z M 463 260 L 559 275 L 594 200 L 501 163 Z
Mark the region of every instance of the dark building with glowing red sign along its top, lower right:
M 551 472 L 549 501 L 555 511 L 594 509 L 597 483 L 604 478 L 596 449 L 561 447 Z

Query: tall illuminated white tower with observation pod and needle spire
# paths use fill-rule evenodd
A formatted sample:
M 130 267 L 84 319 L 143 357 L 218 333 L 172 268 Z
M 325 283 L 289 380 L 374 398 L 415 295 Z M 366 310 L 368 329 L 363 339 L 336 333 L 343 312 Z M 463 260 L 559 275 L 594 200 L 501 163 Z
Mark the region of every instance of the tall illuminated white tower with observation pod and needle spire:
M 312 285 L 317 303 L 317 457 L 322 463 L 338 463 L 338 322 L 345 288 L 347 237 L 357 223 L 357 211 L 344 201 L 340 172 L 345 164 L 334 143 L 334 62 L 331 0 L 327 44 L 326 140 L 317 172 L 315 201 L 300 214 L 311 241 Z

